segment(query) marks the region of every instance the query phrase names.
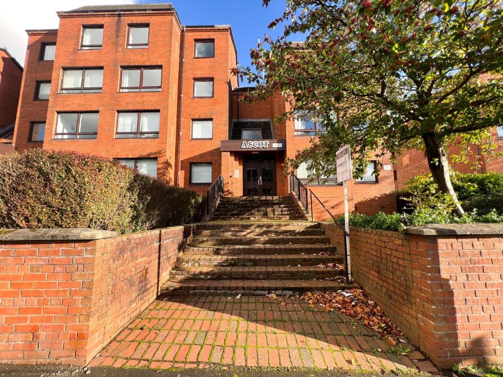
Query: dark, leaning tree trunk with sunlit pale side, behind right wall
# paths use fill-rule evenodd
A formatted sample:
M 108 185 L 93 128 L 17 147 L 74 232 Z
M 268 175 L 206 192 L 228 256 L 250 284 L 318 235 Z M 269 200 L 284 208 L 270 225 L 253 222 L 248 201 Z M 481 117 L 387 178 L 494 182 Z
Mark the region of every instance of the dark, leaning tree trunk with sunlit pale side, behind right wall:
M 456 192 L 452 187 L 451 176 L 449 175 L 449 160 L 447 159 L 447 153 L 442 146 L 442 142 L 434 133 L 423 134 L 422 137 L 425 142 L 426 156 L 433 180 L 438 184 L 441 192 L 449 194 L 454 199 L 459 214 L 464 214 L 465 211 L 461 207 Z

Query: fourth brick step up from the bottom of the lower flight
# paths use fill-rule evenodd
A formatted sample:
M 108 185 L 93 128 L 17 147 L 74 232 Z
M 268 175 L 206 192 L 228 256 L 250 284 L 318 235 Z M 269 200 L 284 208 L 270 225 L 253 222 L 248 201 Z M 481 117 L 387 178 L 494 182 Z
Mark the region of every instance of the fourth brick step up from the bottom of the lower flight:
M 292 245 L 214 245 L 186 246 L 184 255 L 249 255 L 249 254 L 313 254 L 335 253 L 336 247 L 323 244 L 292 244 Z

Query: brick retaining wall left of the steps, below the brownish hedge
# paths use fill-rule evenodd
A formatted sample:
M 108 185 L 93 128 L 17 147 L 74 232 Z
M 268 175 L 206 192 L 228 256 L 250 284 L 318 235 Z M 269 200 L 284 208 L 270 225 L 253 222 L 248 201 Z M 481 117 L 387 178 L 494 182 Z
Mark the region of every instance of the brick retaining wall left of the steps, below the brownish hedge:
M 157 297 L 192 230 L 0 233 L 0 361 L 89 362 Z

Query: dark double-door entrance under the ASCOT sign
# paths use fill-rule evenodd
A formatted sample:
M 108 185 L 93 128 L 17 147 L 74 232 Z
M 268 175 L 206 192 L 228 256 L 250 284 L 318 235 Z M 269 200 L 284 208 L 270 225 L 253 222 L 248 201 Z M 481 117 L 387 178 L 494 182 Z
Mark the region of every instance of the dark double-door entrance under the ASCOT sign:
M 243 196 L 276 196 L 276 157 L 274 155 L 244 157 Z

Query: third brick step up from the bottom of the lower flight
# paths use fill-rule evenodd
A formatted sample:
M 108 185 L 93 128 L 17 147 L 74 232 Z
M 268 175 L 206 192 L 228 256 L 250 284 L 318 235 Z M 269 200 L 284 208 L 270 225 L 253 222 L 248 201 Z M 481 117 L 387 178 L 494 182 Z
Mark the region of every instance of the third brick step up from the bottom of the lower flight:
M 316 266 L 328 263 L 342 264 L 339 255 L 282 254 L 282 255 L 182 255 L 179 267 L 256 267 L 256 266 Z

